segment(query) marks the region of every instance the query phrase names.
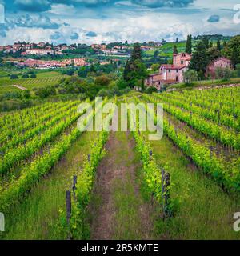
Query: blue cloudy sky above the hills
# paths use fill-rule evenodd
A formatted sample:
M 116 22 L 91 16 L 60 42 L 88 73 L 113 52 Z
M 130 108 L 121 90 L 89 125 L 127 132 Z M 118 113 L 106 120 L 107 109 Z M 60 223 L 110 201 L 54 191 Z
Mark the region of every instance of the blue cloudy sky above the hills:
M 238 3 L 239 0 L 0 0 L 0 45 L 18 40 L 146 42 L 182 40 L 187 34 L 240 34 Z

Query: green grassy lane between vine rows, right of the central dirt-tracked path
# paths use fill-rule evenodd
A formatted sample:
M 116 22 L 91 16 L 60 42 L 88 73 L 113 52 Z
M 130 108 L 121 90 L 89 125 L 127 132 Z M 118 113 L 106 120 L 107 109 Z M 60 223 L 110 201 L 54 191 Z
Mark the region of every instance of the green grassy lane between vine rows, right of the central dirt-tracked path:
M 240 239 L 234 232 L 237 195 L 226 194 L 207 178 L 164 136 L 151 142 L 161 166 L 168 166 L 176 212 L 166 222 L 156 222 L 156 232 L 168 239 Z

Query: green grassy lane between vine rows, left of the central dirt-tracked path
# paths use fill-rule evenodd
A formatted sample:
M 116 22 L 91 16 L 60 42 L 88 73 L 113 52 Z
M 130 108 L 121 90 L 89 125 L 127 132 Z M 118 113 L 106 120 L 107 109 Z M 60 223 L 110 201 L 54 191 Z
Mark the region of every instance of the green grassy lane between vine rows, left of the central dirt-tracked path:
M 95 132 L 87 132 L 70 147 L 51 173 L 34 186 L 28 197 L 6 215 L 6 232 L 0 239 L 66 239 L 59 228 L 59 210 L 65 211 L 65 191 L 72 176 L 81 172 L 84 155 L 90 151 Z

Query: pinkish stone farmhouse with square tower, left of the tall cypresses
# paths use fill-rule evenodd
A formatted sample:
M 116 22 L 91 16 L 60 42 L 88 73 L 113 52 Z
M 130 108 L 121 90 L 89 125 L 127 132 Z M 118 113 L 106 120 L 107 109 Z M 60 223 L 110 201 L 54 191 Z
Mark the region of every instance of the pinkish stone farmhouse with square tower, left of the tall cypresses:
M 183 74 L 188 70 L 192 55 L 174 54 L 173 64 L 160 66 L 158 74 L 151 74 L 145 81 L 146 86 L 154 86 L 158 90 L 164 85 L 183 82 Z

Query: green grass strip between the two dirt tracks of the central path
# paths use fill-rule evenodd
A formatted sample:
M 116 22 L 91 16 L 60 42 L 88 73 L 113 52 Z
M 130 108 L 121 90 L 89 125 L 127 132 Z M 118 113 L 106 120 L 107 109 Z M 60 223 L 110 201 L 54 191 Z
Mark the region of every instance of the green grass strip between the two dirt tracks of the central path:
M 118 155 L 118 160 L 127 167 L 137 166 L 139 159 L 131 158 L 128 150 L 130 138 L 126 133 L 116 133 L 116 138 L 121 143 L 114 154 Z M 133 150 L 133 149 L 131 149 Z M 115 228 L 113 238 L 119 239 L 143 239 L 142 220 L 139 218 L 139 206 L 144 202 L 141 194 L 136 193 L 136 178 L 130 172 L 126 173 L 124 179 L 116 178 L 113 184 L 113 198 L 115 209 Z

